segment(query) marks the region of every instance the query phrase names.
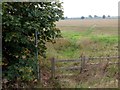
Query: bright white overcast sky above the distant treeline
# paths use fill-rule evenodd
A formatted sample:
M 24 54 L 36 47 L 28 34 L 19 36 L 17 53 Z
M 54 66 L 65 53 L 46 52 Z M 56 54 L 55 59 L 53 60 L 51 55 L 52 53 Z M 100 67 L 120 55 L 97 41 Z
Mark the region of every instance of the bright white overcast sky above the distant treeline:
M 120 0 L 61 0 L 64 16 L 81 17 L 88 15 L 118 16 L 118 2 Z

